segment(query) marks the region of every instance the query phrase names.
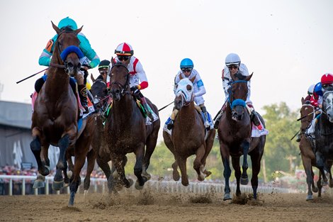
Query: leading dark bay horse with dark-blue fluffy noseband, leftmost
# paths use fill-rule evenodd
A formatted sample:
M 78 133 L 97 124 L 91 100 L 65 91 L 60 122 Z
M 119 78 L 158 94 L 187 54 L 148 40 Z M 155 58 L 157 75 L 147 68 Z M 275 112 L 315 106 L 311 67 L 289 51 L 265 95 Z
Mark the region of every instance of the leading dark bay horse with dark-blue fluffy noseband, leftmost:
M 33 141 L 30 148 L 38 163 L 38 177 L 33 187 L 44 187 L 45 176 L 50 172 L 50 160 L 47 151 L 50 145 L 60 148 L 52 188 L 59 190 L 64 185 L 62 171 L 67 169 L 65 152 L 73 146 L 78 135 L 78 102 L 69 84 L 69 76 L 75 76 L 81 67 L 83 53 L 79 49 L 77 30 L 63 28 L 60 30 L 52 23 L 57 32 L 55 50 L 50 67 L 47 70 L 47 81 L 37 96 L 32 115 Z M 84 128 L 85 121 L 82 124 Z

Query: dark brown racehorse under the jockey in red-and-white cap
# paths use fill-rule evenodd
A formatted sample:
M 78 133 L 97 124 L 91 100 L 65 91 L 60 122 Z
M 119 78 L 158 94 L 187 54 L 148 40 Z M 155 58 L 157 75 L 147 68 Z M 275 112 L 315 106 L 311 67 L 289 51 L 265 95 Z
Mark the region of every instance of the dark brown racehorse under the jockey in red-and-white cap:
M 132 180 L 125 177 L 126 154 L 134 152 L 136 162 L 134 174 L 137 177 L 136 189 L 142 189 L 145 182 L 150 178 L 147 174 L 150 157 L 154 152 L 160 126 L 159 119 L 146 126 L 146 119 L 142 115 L 137 102 L 130 92 L 130 73 L 128 68 L 121 62 L 115 63 L 111 59 L 112 66 L 109 69 L 111 82 L 111 96 L 113 105 L 106 118 L 105 137 L 111 160 L 115 166 L 120 184 L 129 188 Z M 149 99 L 147 103 L 158 113 L 157 107 Z M 146 150 L 145 150 L 146 148 Z M 108 187 L 111 192 L 116 192 L 118 183 L 115 173 L 108 178 Z

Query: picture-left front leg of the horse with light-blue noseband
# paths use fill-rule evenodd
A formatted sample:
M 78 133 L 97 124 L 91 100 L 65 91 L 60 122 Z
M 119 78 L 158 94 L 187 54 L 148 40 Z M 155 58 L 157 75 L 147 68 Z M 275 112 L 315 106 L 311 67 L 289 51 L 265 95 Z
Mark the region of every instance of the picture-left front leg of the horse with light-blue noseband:
M 228 199 L 232 199 L 230 195 L 230 186 L 229 186 L 229 179 L 231 175 L 231 169 L 230 169 L 230 153 L 229 148 L 227 148 L 226 145 L 224 145 L 220 140 L 220 153 L 223 163 L 223 176 L 225 177 L 225 195 L 223 196 L 223 200 L 226 201 Z

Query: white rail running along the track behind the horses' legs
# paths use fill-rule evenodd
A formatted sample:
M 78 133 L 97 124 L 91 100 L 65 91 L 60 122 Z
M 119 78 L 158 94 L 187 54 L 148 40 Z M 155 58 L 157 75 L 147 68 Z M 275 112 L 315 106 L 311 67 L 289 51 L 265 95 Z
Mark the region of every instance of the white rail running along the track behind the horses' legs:
M 0 184 L 9 184 L 9 196 L 13 195 L 13 183 L 14 182 L 21 182 L 21 194 L 26 195 L 26 184 L 29 183 L 31 186 L 33 184 L 33 181 L 36 179 L 35 176 L 18 176 L 18 175 L 0 175 Z M 1 182 L 3 180 L 3 182 Z M 31 180 L 30 182 L 27 182 L 28 180 Z M 53 181 L 53 177 L 45 177 L 45 194 L 50 194 L 50 184 Z M 79 189 L 83 189 L 83 179 L 81 186 Z M 174 181 L 154 181 L 149 180 L 146 183 L 146 186 L 156 190 L 157 192 L 170 192 L 170 193 L 207 193 L 207 192 L 216 192 L 216 193 L 223 193 L 224 192 L 224 184 L 218 184 L 218 183 L 210 183 L 210 182 L 190 182 L 188 187 L 184 187 L 181 182 L 174 182 Z M 69 194 L 69 187 L 64 188 L 66 193 Z M 79 192 L 79 189 L 77 192 Z M 105 193 L 108 192 L 107 187 L 107 181 L 106 179 L 100 179 L 100 178 L 91 178 L 90 188 L 92 189 L 92 192 L 101 192 Z M 134 186 L 132 186 L 132 189 L 135 189 Z M 230 185 L 230 189 L 232 193 L 236 192 L 236 186 Z M 240 187 L 242 192 L 245 193 L 252 193 L 252 187 L 250 185 L 244 186 L 241 185 Z M 64 191 L 63 191 L 64 192 Z M 286 188 L 280 188 L 280 187 L 263 187 L 259 186 L 257 192 L 259 193 L 295 193 L 298 192 L 293 189 L 286 189 Z M 57 194 L 60 194 L 60 191 L 56 192 Z M 34 190 L 34 194 L 38 195 L 38 189 Z

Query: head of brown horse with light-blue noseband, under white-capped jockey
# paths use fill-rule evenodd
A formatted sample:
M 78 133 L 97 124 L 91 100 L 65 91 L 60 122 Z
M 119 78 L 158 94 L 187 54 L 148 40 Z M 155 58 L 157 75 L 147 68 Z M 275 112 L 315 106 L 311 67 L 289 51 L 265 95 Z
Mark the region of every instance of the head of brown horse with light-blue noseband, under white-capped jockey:
M 251 79 L 252 74 L 249 76 L 242 75 L 242 72 L 237 72 L 232 76 L 231 87 L 229 90 L 229 104 L 232 111 L 232 119 L 241 121 L 246 109 L 247 94 L 249 89 L 247 83 Z

